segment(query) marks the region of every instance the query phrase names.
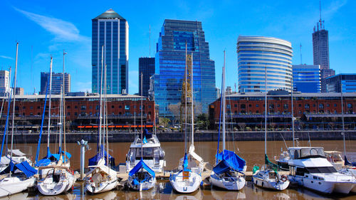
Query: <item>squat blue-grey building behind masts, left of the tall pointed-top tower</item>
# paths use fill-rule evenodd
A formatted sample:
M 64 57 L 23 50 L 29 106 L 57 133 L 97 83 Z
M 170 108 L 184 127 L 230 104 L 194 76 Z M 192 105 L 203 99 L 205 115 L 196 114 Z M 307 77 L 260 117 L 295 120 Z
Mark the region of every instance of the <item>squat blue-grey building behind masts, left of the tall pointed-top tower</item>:
M 41 72 L 41 95 L 46 95 L 47 85 L 49 87 L 50 73 Z M 61 94 L 61 86 L 63 85 L 63 73 L 52 73 L 52 94 Z M 49 90 L 49 88 L 48 88 Z M 49 91 L 48 91 L 49 92 Z M 64 93 L 70 93 L 70 74 L 64 73 Z M 49 93 L 48 93 L 49 94 Z

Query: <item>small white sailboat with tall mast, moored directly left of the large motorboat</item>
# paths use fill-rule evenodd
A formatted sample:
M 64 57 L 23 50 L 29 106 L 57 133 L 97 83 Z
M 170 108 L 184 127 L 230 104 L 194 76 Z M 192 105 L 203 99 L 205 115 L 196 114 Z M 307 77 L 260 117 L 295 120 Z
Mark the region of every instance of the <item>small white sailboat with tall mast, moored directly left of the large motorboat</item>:
M 281 176 L 278 174 L 278 165 L 270 162 L 267 157 L 267 68 L 265 75 L 265 85 L 265 164 L 261 170 L 255 169 L 255 167 L 253 167 L 255 169 L 253 171 L 255 172 L 253 172 L 252 181 L 256 186 L 281 191 L 288 187 L 288 178 L 286 175 Z

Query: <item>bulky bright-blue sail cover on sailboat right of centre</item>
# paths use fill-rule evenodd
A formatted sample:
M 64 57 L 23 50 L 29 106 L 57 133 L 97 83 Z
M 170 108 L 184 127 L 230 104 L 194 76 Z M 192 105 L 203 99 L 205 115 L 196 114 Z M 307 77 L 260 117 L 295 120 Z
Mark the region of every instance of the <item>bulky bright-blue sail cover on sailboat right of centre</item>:
M 217 168 L 214 167 L 214 169 L 213 169 L 214 172 L 215 172 L 215 168 L 216 168 L 216 171 L 219 172 L 222 169 L 225 170 L 226 167 L 229 167 L 229 168 L 231 168 L 235 171 L 238 171 L 238 172 L 242 172 L 246 165 L 246 161 L 244 159 L 242 159 L 237 154 L 235 154 L 235 152 L 231 152 L 226 149 L 224 150 L 224 152 L 217 154 L 216 159 L 221 160 L 221 162 L 219 162 L 219 164 L 216 165 Z M 226 171 L 224 171 L 224 172 L 226 172 Z M 219 174 L 219 173 L 216 173 L 216 174 Z

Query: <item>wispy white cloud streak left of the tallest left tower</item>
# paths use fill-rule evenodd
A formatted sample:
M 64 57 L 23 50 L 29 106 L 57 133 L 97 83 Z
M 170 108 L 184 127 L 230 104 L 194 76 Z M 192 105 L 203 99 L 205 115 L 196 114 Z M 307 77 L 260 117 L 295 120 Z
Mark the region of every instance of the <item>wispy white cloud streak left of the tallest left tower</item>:
M 56 19 L 51 16 L 43 16 L 40 14 L 34 14 L 28 11 L 23 11 L 14 7 L 16 11 L 26 16 L 31 21 L 34 21 L 46 31 L 52 33 L 57 41 L 80 41 L 90 43 L 90 38 L 87 36 L 81 36 L 78 28 L 68 21 Z

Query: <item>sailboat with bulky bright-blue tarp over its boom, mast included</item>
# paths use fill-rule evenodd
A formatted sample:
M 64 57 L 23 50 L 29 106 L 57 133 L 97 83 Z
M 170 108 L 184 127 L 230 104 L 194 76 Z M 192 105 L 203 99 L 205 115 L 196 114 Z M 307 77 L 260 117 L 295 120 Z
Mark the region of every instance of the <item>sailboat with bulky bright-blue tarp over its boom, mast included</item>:
M 246 172 L 246 161 L 239 157 L 235 152 L 229 151 L 225 148 L 225 115 L 226 115 L 226 98 L 224 93 L 225 88 L 225 51 L 224 51 L 224 66 L 222 73 L 222 85 L 221 85 L 221 108 L 222 110 L 222 143 L 223 150 L 219 153 L 219 141 L 218 149 L 216 152 L 216 166 L 213 168 L 210 174 L 211 184 L 218 186 L 222 189 L 228 190 L 240 190 L 244 188 L 246 184 L 244 172 Z M 220 135 L 220 126 L 219 126 Z

